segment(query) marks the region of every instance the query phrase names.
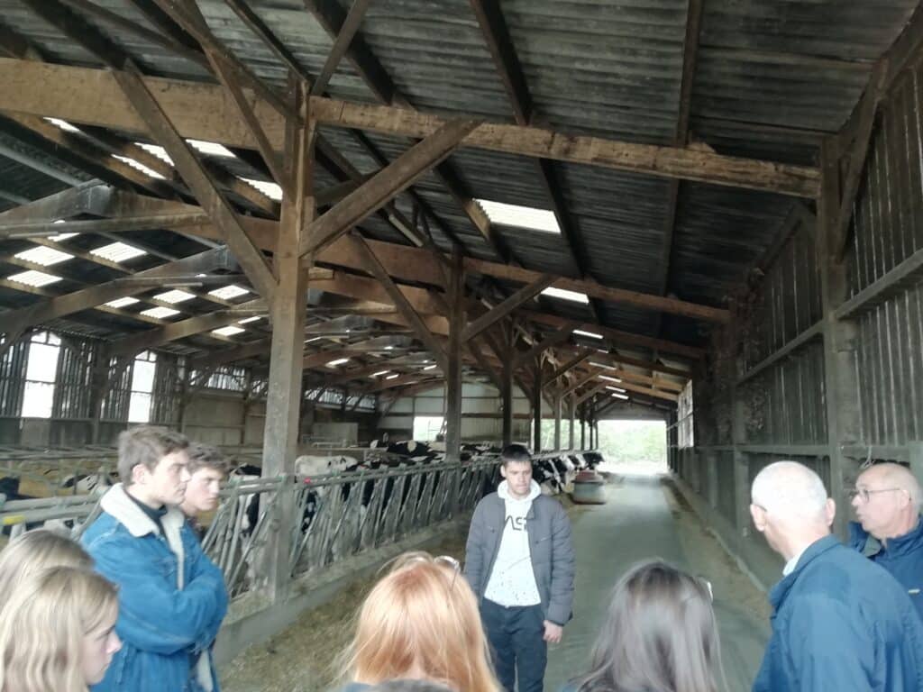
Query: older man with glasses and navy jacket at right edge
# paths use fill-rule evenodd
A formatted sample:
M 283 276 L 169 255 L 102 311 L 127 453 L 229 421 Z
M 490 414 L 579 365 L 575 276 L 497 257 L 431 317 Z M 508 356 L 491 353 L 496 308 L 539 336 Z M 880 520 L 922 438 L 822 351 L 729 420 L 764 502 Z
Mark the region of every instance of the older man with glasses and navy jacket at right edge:
M 919 482 L 900 464 L 875 464 L 856 479 L 850 495 L 858 519 L 849 523 L 850 545 L 891 572 L 923 618 Z

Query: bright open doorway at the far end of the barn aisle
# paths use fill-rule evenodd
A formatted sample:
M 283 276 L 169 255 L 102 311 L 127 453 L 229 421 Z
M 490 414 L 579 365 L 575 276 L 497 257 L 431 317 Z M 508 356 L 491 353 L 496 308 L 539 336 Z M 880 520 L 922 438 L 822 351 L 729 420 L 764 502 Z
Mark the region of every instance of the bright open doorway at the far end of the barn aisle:
M 598 448 L 605 457 L 605 471 L 645 475 L 667 472 L 663 421 L 600 421 Z

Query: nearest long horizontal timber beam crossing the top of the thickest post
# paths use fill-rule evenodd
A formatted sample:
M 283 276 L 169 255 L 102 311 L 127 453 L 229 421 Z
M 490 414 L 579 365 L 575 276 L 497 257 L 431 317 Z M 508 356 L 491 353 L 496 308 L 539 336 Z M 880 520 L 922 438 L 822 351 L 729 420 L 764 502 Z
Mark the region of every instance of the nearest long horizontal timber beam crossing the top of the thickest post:
M 145 81 L 183 137 L 256 149 L 252 135 L 240 122 L 234 105 L 227 101 L 221 87 L 176 79 L 146 78 Z M 146 125 L 131 111 L 113 76 L 102 70 L 0 58 L 0 82 L 6 85 L 0 90 L 0 111 L 147 132 Z M 34 85 L 39 83 L 43 88 L 35 89 Z M 273 148 L 281 149 L 282 116 L 261 103 L 256 104 L 255 110 Z M 435 115 L 318 97 L 311 97 L 311 111 L 322 125 L 403 137 L 426 137 L 444 124 L 443 119 Z M 462 146 L 795 197 L 817 197 L 819 189 L 816 168 L 740 159 L 699 149 L 568 136 L 521 125 L 479 125 L 462 140 Z

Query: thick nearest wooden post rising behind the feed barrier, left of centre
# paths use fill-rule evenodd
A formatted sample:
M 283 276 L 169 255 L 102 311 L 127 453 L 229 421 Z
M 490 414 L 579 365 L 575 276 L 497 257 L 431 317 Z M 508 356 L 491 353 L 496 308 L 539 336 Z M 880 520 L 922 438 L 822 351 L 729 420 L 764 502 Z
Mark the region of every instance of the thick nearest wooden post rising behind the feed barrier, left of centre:
M 282 221 L 275 255 L 280 281 L 270 302 L 272 341 L 263 446 L 264 477 L 294 473 L 307 302 L 307 268 L 302 267 L 299 248 L 306 240 L 303 237 L 305 229 L 316 213 L 314 197 L 311 197 L 316 125 L 307 112 L 306 86 L 294 80 L 291 83 L 296 112 L 302 122 L 291 119 L 285 133 L 284 168 L 290 181 L 288 189 L 294 194 L 282 198 Z M 283 493 L 276 507 L 279 523 L 274 531 L 270 531 L 264 566 L 270 597 L 279 602 L 286 597 L 291 581 L 294 496 Z

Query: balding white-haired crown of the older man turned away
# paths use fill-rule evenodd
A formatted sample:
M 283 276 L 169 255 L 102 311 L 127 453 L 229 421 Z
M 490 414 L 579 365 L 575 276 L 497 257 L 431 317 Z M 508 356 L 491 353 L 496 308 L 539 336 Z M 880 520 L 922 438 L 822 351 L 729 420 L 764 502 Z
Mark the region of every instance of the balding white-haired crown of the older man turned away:
M 797 461 L 776 461 L 757 474 L 753 504 L 784 519 L 823 520 L 827 491 L 821 477 Z

